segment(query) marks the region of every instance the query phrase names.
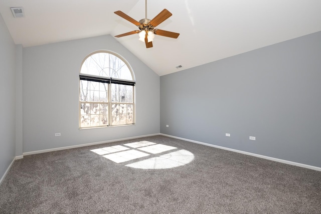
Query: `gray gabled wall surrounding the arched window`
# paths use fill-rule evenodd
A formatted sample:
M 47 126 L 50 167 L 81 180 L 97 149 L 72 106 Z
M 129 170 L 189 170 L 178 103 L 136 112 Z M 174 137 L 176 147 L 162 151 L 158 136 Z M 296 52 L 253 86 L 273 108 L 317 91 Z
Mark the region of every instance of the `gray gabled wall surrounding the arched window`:
M 79 130 L 80 66 L 96 50 L 116 52 L 131 65 L 136 125 Z M 159 88 L 159 76 L 110 35 L 24 48 L 23 151 L 159 133 Z

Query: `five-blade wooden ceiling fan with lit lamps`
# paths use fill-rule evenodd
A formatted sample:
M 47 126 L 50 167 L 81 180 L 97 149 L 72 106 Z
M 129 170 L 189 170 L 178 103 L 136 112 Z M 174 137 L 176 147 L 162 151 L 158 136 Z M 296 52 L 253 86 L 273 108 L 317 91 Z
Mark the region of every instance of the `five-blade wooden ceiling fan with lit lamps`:
M 157 25 L 161 24 L 162 22 L 170 18 L 172 14 L 168 10 L 164 9 L 152 20 L 147 19 L 147 0 L 145 0 L 145 19 L 142 19 L 139 22 L 127 16 L 121 11 L 116 11 L 114 13 L 124 18 L 125 20 L 131 22 L 132 24 L 134 24 L 139 28 L 139 30 L 135 30 L 135 31 L 131 31 L 131 32 L 127 32 L 127 33 L 115 36 L 117 38 L 132 35 L 132 34 L 139 34 L 139 40 L 142 42 L 145 42 L 146 48 L 151 48 L 154 35 L 170 37 L 174 39 L 177 39 L 180 36 L 179 33 L 164 31 L 160 29 L 154 29 Z

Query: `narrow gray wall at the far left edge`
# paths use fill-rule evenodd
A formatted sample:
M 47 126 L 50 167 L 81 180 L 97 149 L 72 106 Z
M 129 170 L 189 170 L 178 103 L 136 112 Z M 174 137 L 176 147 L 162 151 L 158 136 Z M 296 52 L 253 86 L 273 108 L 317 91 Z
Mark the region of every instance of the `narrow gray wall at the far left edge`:
M 15 158 L 15 44 L 0 14 L 0 179 Z

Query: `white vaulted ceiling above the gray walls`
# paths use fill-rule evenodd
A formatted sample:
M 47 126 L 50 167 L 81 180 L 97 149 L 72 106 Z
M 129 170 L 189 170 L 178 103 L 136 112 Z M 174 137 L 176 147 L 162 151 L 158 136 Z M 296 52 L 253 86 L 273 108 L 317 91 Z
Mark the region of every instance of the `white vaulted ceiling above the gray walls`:
M 25 18 L 15 19 L 11 7 L 23 7 Z M 138 35 L 116 38 L 159 76 L 321 31 L 320 0 L 149 0 L 147 18 L 165 8 L 173 16 L 156 28 L 180 33 L 178 39 L 156 35 L 146 49 Z M 139 21 L 145 0 L 0 1 L 23 47 L 138 30 L 118 10 Z

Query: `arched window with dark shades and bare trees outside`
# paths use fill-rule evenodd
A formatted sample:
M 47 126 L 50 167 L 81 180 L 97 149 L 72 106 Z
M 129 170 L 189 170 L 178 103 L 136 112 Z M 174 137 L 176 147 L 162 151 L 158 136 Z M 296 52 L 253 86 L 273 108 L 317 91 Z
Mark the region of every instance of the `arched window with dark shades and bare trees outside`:
M 88 55 L 79 75 L 79 128 L 135 124 L 135 78 L 110 51 Z

